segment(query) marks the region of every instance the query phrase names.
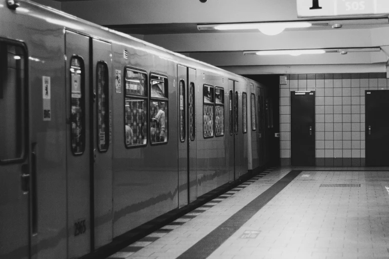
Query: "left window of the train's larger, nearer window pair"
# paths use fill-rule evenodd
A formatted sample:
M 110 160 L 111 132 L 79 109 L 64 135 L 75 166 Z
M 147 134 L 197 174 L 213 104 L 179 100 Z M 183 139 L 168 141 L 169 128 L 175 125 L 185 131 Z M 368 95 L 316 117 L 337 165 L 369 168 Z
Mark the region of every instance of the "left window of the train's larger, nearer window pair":
M 147 73 L 125 68 L 124 139 L 126 147 L 147 145 Z

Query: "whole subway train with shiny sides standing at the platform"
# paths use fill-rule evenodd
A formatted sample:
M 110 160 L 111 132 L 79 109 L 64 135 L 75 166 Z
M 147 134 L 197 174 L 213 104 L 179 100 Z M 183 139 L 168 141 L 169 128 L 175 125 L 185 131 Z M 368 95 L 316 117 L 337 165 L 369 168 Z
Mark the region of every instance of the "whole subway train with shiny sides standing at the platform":
M 264 85 L 0 3 L 0 258 L 73 259 L 264 167 Z

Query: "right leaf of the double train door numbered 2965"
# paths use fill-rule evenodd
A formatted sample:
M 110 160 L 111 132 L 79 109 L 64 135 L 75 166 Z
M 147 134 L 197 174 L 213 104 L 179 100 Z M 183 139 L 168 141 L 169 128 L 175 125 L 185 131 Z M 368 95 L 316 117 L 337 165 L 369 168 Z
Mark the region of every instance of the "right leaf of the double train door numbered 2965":
M 112 142 L 111 110 L 112 102 L 110 84 L 112 75 L 111 44 L 92 39 L 92 74 L 93 102 L 90 109 L 93 117 L 90 126 L 91 143 L 93 143 L 94 189 L 91 191 L 91 237 L 94 237 L 95 249 L 112 242 Z M 93 232 L 94 231 L 94 232 Z M 92 239 L 93 241 L 93 239 Z

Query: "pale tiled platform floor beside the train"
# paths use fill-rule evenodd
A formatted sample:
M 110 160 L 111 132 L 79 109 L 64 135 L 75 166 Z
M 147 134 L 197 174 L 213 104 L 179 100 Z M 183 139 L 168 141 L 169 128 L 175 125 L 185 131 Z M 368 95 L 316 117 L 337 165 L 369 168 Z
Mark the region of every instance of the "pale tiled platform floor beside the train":
M 208 258 L 389 258 L 389 168 L 344 167 L 277 168 L 109 258 L 177 258 L 292 169 L 304 171 Z M 321 188 L 320 184 L 361 187 Z M 251 234 L 244 235 L 245 231 Z

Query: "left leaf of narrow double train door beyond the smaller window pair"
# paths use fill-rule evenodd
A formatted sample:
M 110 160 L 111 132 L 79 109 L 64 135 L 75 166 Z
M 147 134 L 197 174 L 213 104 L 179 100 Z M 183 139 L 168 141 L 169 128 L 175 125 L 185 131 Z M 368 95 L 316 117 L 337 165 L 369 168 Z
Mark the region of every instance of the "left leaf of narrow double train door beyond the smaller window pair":
M 227 142 L 227 148 L 228 148 L 228 171 L 230 176 L 230 182 L 235 180 L 235 134 L 234 134 L 234 87 L 235 81 L 229 79 L 228 80 L 228 121 L 229 121 L 229 127 L 228 131 L 226 131 L 226 142 Z

